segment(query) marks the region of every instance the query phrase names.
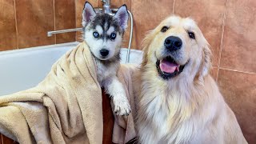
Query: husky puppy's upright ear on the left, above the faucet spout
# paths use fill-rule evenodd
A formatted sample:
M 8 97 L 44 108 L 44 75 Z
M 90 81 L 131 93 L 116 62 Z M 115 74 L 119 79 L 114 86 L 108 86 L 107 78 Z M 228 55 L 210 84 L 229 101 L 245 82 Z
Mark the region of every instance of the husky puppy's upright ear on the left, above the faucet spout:
M 96 13 L 93 6 L 91 6 L 90 2 L 86 2 L 82 10 L 82 26 L 85 27 L 86 23 L 90 22 L 95 16 Z

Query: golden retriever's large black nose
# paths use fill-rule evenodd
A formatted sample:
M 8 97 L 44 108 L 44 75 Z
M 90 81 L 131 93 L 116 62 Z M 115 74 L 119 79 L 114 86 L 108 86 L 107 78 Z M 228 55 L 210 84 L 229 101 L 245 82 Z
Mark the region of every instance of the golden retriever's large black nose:
M 174 36 L 170 36 L 165 40 L 166 49 L 170 51 L 178 50 L 182 47 L 182 39 Z

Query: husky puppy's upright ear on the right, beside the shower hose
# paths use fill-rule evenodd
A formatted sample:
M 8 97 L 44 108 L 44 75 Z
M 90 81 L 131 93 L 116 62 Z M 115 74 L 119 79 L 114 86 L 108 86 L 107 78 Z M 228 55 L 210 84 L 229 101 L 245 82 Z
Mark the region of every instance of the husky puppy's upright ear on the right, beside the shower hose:
M 128 11 L 126 5 L 122 5 L 116 14 L 114 14 L 114 18 L 118 19 L 119 26 L 122 27 L 122 30 L 126 30 L 128 23 Z

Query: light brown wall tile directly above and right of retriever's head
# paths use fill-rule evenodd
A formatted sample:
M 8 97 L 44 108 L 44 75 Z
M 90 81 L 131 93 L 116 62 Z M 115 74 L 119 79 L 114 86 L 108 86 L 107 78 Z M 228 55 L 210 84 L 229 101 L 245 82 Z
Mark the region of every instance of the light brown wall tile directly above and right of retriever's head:
M 176 0 L 174 14 L 191 17 L 198 22 L 210 43 L 214 55 L 213 66 L 218 66 L 225 0 Z

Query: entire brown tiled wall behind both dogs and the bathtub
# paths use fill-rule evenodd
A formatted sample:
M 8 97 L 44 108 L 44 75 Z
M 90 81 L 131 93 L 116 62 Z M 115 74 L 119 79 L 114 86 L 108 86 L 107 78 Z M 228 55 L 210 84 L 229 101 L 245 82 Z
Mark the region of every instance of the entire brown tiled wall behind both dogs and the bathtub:
M 85 0 L 0 0 L 0 50 L 79 41 L 81 34 L 49 30 L 81 27 Z M 89 0 L 101 7 L 100 0 Z M 132 48 L 141 49 L 146 31 L 170 14 L 192 17 L 214 54 L 211 74 L 234 110 L 246 139 L 256 143 L 256 1 L 255 0 L 112 0 L 126 3 L 134 15 Z M 130 26 L 125 34 L 128 46 Z

